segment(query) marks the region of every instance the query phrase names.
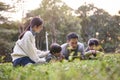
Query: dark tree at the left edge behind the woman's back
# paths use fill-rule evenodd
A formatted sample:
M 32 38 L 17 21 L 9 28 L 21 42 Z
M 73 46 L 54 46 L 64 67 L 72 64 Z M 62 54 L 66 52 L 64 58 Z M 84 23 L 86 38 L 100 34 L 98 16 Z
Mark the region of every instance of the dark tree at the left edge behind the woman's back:
M 0 63 L 12 60 L 10 53 L 18 36 L 18 23 L 9 21 L 9 17 L 3 15 L 11 12 L 10 5 L 0 2 Z

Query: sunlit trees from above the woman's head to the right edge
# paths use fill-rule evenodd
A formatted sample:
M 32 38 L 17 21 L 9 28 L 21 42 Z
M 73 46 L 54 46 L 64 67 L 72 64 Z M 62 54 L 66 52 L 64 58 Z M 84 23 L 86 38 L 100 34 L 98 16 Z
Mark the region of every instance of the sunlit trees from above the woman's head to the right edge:
M 73 15 L 74 12 L 78 17 Z M 52 42 L 63 44 L 69 32 L 78 33 L 79 40 L 85 45 L 90 38 L 98 38 L 106 52 L 114 52 L 120 44 L 120 16 L 111 16 L 93 4 L 83 4 L 73 11 L 61 0 L 43 0 L 40 8 L 29 12 L 26 18 L 32 16 L 43 18 L 44 31 L 49 33 L 49 44 Z

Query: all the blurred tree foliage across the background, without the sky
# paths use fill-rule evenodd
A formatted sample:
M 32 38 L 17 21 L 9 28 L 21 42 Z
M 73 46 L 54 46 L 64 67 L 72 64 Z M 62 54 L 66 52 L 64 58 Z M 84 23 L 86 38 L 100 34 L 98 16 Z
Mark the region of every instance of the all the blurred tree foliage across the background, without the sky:
M 18 6 L 21 7 L 23 3 L 24 0 L 15 0 L 15 4 L 12 6 L 18 10 Z M 44 29 L 36 36 L 38 49 L 45 50 L 46 31 L 48 32 L 49 45 L 53 42 L 63 44 L 66 42 L 65 36 L 69 32 L 76 32 L 85 47 L 88 39 L 96 37 L 106 52 L 119 52 L 120 15 L 111 16 L 93 4 L 84 4 L 74 11 L 61 0 L 42 0 L 39 8 L 30 11 L 22 20 L 22 22 L 26 22 L 25 24 L 10 22 L 7 20 L 9 18 L 2 15 L 11 10 L 9 5 L 0 2 L 0 55 L 3 55 L 2 58 L 11 53 L 18 38 L 18 26 L 21 26 L 19 29 L 23 31 L 23 25 L 28 26 L 30 18 L 34 16 L 40 16 L 44 20 Z M 96 32 L 99 34 L 96 35 Z

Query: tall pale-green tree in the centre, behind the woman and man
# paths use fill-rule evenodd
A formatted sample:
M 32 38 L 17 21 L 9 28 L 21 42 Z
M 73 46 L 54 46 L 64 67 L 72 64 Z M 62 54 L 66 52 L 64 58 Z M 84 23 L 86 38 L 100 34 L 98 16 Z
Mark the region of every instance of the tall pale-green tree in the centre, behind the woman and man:
M 61 0 L 43 0 L 40 8 L 29 12 L 27 17 L 40 16 L 44 20 L 45 31 L 49 33 L 49 44 L 62 44 L 66 42 L 65 36 L 69 32 L 80 33 L 80 20 L 72 15 L 72 11 Z

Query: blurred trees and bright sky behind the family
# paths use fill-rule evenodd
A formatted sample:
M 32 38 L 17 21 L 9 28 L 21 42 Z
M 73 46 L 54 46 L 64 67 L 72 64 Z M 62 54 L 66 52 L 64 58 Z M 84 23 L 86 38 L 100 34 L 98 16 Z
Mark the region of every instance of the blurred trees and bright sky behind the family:
M 40 50 L 46 50 L 46 37 L 49 47 L 65 43 L 65 36 L 76 32 L 85 47 L 94 37 L 106 54 L 120 53 L 119 0 L 0 0 L 0 62 L 11 61 L 19 34 L 35 16 L 44 20 L 36 36 Z

